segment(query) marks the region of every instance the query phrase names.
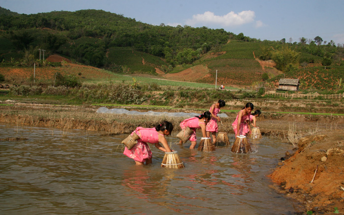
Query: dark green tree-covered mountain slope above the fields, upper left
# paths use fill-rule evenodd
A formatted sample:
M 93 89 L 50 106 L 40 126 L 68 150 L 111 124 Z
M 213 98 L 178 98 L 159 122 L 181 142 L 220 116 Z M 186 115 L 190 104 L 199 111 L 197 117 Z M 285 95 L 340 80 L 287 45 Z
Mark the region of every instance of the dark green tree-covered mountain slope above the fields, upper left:
M 104 57 L 109 50 L 123 47 L 164 57 L 172 66 L 191 63 L 235 36 L 224 29 L 153 26 L 103 10 L 1 13 L 0 29 L 11 43 L 7 53 L 13 46 L 17 51 L 44 49 L 98 67 L 111 64 Z M 6 51 L 2 59 L 9 60 L 13 54 Z

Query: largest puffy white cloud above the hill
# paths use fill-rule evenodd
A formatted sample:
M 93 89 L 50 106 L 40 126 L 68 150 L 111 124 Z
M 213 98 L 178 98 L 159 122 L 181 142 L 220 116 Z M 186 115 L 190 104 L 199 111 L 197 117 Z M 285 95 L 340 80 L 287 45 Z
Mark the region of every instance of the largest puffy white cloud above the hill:
M 203 14 L 193 15 L 192 19 L 186 21 L 186 25 L 195 26 L 197 24 L 216 24 L 224 27 L 241 26 L 255 21 L 255 12 L 251 10 L 244 10 L 240 13 L 229 12 L 224 16 L 217 16 L 213 12 L 206 11 Z M 262 26 L 261 21 L 257 21 L 257 25 Z

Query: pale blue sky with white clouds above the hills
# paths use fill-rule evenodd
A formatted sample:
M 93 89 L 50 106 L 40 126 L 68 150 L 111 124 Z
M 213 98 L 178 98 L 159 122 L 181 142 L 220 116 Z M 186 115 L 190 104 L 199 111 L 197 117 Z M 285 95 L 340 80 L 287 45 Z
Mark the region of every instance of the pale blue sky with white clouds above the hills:
M 261 40 L 344 44 L 344 0 L 0 0 L 17 13 L 101 9 L 152 25 L 223 28 Z

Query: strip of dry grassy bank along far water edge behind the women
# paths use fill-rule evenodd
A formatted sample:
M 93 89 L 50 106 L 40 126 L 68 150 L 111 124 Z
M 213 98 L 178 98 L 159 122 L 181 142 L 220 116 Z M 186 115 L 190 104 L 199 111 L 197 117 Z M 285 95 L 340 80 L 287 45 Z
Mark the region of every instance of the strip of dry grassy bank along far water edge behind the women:
M 182 117 L 136 116 L 126 114 L 96 113 L 99 106 L 64 106 L 12 103 L 0 106 L 0 122 L 26 126 L 55 127 L 63 130 L 83 129 L 98 131 L 101 134 L 131 133 L 138 126 L 154 127 L 163 120 L 172 122 L 174 131 L 180 129 Z M 109 107 L 110 108 L 110 107 Z M 116 107 L 121 108 L 121 107 Z M 147 108 L 122 107 L 128 110 L 147 111 Z M 149 109 L 151 110 L 151 109 Z M 193 109 L 153 109 L 167 112 L 200 112 Z M 219 123 L 221 132 L 233 134 L 231 123 L 236 112 L 227 112 L 229 117 Z M 302 114 L 264 113 L 257 118 L 262 134 L 286 138 L 291 126 L 296 133 L 303 135 L 322 130 L 344 129 L 343 116 L 310 116 Z

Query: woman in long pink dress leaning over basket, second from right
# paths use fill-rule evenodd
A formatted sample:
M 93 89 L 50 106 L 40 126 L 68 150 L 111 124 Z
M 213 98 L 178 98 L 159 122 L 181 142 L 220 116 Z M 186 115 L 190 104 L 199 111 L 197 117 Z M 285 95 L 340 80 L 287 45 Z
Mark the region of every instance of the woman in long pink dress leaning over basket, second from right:
M 235 136 L 246 135 L 247 133 L 251 134 L 251 127 L 249 122 L 251 111 L 253 110 L 253 108 L 253 104 L 249 102 L 238 112 L 238 115 L 236 116 L 236 119 L 232 124 Z

